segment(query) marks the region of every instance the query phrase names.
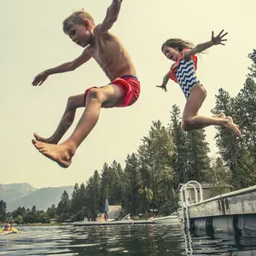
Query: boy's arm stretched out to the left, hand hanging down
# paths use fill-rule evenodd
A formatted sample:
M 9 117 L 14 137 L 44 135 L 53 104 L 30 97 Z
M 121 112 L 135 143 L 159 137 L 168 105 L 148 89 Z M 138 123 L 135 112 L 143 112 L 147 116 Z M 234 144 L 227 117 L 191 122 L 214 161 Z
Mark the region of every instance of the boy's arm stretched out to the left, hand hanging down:
M 65 72 L 73 71 L 76 68 L 80 67 L 82 64 L 84 64 L 86 61 L 89 61 L 90 58 L 91 58 L 91 55 L 89 54 L 88 48 L 86 48 L 84 49 L 83 53 L 79 55 L 79 57 L 76 58 L 75 60 L 64 63 L 58 67 L 49 68 L 43 71 L 42 73 L 39 73 L 32 81 L 32 84 L 34 86 L 41 85 L 49 77 L 49 75 L 52 75 L 55 73 L 65 73 Z

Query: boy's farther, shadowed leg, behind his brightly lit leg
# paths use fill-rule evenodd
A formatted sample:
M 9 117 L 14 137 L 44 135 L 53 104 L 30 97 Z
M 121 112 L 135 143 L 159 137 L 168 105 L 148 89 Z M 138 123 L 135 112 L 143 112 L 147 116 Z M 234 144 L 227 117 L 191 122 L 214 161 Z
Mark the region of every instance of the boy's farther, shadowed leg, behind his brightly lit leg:
M 37 141 L 44 143 L 59 143 L 61 137 L 63 137 L 68 128 L 73 124 L 76 109 L 82 107 L 84 107 L 84 94 L 69 97 L 67 100 L 66 110 L 61 118 L 61 122 L 58 125 L 55 133 L 49 138 L 44 138 L 39 136 L 37 133 L 34 133 L 34 137 L 37 139 Z

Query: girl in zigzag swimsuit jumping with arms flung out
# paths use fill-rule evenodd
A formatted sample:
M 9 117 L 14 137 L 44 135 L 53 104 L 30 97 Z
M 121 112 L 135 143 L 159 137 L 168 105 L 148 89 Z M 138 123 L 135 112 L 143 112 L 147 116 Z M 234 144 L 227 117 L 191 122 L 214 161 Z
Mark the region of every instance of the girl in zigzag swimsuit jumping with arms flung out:
M 164 77 L 163 83 L 156 87 L 167 91 L 166 84 L 169 79 L 172 79 L 183 90 L 187 99 L 182 118 L 183 131 L 193 131 L 209 125 L 220 125 L 229 129 L 236 137 L 241 137 L 241 131 L 239 131 L 238 126 L 233 123 L 233 119 L 230 116 L 226 117 L 224 113 L 220 113 L 215 117 L 197 116 L 202 103 L 205 101 L 207 91 L 199 84 L 195 76 L 197 68 L 197 57 L 195 55 L 212 47 L 212 45 L 224 45 L 223 42 L 227 41 L 227 39 L 224 39 L 227 32 L 224 34 L 223 32 L 224 30 L 217 37 L 214 37 L 212 32 L 211 41 L 198 44 L 195 47 L 193 47 L 193 44 L 179 38 L 168 39 L 162 45 L 163 54 L 169 60 L 174 61 L 174 64 Z

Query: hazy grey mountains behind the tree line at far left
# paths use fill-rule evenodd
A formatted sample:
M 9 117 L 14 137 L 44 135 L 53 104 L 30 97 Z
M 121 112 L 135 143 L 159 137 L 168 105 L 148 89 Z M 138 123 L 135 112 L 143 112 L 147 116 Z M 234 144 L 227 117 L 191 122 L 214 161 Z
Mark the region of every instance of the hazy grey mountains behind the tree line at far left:
M 64 190 L 71 196 L 73 186 L 35 189 L 28 183 L 0 184 L 0 200 L 7 203 L 8 212 L 18 207 L 32 208 L 33 206 L 45 211 L 53 204 L 57 206 Z

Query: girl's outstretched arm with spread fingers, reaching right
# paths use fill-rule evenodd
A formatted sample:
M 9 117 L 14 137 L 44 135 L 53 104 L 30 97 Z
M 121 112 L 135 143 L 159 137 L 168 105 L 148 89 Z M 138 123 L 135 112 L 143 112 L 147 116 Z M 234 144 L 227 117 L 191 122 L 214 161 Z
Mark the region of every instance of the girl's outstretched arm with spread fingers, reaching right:
M 225 32 L 223 35 L 222 33 L 224 30 L 222 30 L 217 37 L 214 37 L 214 34 L 212 32 L 212 39 L 209 42 L 203 43 L 203 44 L 197 44 L 195 48 L 193 49 L 186 49 L 183 51 L 183 58 L 190 58 L 192 55 L 196 55 L 198 53 L 201 53 L 202 51 L 212 47 L 213 45 L 223 44 L 224 41 L 227 41 L 227 39 L 223 39 L 224 36 L 227 34 Z

